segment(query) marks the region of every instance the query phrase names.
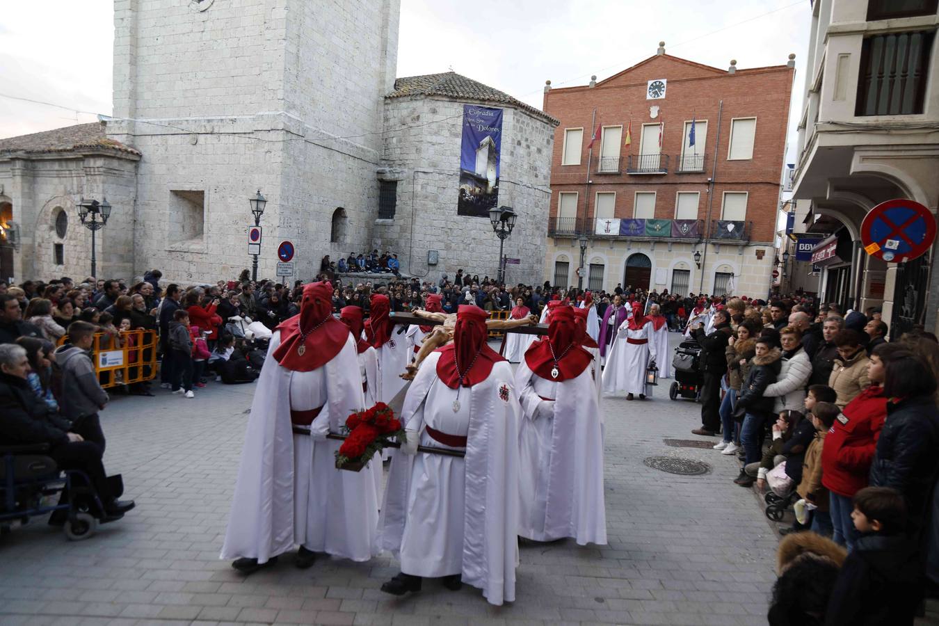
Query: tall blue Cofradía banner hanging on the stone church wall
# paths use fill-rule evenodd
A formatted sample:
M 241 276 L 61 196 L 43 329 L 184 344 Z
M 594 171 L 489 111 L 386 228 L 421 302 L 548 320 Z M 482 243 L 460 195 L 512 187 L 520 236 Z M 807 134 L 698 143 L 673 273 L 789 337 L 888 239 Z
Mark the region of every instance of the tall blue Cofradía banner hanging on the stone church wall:
M 501 145 L 502 110 L 464 104 L 457 215 L 488 218 L 499 205 Z

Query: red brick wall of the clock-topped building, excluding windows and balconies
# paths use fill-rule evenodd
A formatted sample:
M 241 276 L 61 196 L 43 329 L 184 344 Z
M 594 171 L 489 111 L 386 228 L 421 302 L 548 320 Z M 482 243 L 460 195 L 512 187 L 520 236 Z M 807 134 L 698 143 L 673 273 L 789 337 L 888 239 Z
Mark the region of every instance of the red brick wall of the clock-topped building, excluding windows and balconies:
M 552 89 L 545 96 L 548 115 L 561 120 L 555 130 L 551 161 L 551 209 L 557 215 L 559 192 L 578 191 L 577 217 L 583 218 L 587 180 L 587 145 L 593 134 L 591 118 L 596 109 L 596 123 L 623 125 L 632 121 L 632 145 L 622 145 L 623 174 L 597 175 L 599 141 L 593 146 L 590 208 L 593 219 L 597 191 L 616 191 L 615 217 L 633 217 L 635 191 L 656 191 L 655 218 L 673 219 L 676 191 L 700 191 L 699 219 L 707 216 L 707 179 L 714 166 L 717 140 L 718 102 L 724 101 L 720 138 L 717 146 L 717 169 L 712 220 L 720 219 L 723 191 L 747 191 L 747 221 L 752 221 L 752 241 L 772 241 L 776 231 L 779 179 L 786 149 L 786 129 L 793 85 L 793 69 L 786 66 L 761 69 L 738 69 L 734 74 L 687 62 L 668 55 L 654 56 L 638 66 L 612 76 L 595 87 Z M 664 99 L 646 99 L 649 80 L 664 78 L 668 89 Z M 652 119 L 649 107 L 659 107 L 659 117 Z M 694 116 L 708 122 L 705 145 L 705 168 L 700 174 L 675 174 L 684 144 L 685 121 Z M 730 147 L 731 118 L 756 117 L 756 136 L 752 160 L 727 160 Z M 625 174 L 627 155 L 639 154 L 642 124 L 665 122 L 662 154 L 670 155 L 667 175 Z M 561 164 L 564 129 L 583 127 L 584 140 L 580 165 Z M 593 127 L 595 129 L 595 125 Z M 699 138 L 700 138 L 700 128 Z

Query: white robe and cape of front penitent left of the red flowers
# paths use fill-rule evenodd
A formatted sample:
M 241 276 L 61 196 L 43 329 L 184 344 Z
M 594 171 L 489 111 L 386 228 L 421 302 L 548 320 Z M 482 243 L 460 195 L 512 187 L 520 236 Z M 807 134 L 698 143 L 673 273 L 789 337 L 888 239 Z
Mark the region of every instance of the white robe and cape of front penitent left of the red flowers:
M 312 372 L 293 372 L 271 355 L 254 402 L 222 558 L 256 558 L 266 563 L 296 544 L 314 552 L 364 561 L 373 556 L 378 501 L 371 472 L 335 468 L 339 424 L 364 404 L 355 342 L 349 335 L 333 359 Z M 311 435 L 294 435 L 290 410 L 322 406 Z

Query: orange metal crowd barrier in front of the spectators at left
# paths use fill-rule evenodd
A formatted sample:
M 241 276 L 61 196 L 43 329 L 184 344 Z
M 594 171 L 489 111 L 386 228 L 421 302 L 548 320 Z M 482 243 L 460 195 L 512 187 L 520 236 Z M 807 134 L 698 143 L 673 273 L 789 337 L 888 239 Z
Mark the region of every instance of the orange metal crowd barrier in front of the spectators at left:
M 68 344 L 69 335 L 59 340 Z M 96 332 L 91 346 L 92 363 L 103 388 L 153 380 L 157 375 L 157 331 L 126 330 L 117 337 Z

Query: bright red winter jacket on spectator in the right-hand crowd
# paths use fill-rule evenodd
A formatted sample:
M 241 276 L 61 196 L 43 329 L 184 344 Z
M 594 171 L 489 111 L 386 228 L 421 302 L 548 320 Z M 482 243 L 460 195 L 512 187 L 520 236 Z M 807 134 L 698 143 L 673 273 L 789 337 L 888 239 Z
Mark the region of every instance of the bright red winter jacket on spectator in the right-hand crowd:
M 822 484 L 839 496 L 852 497 L 868 486 L 870 462 L 884 428 L 886 398 L 882 389 L 864 389 L 835 420 L 822 450 Z

